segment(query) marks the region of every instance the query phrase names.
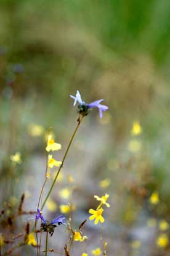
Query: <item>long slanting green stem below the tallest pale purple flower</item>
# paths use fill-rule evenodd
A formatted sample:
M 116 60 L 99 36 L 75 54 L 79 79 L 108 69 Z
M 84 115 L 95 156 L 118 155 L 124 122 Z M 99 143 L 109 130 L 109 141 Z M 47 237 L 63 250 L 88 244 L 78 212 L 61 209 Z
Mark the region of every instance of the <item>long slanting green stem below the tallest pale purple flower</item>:
M 54 188 L 55 181 L 57 180 L 57 178 L 58 178 L 58 176 L 59 176 L 60 170 L 62 170 L 63 163 L 64 163 L 64 161 L 65 161 L 65 158 L 67 157 L 67 154 L 68 154 L 68 151 L 69 151 L 69 149 L 70 149 L 71 143 L 72 143 L 73 139 L 75 138 L 76 131 L 78 130 L 79 125 L 80 125 L 82 119 L 83 119 L 83 117 L 79 117 L 79 118 L 78 118 L 78 125 L 76 126 L 75 131 L 74 131 L 73 135 L 71 136 L 70 142 L 69 142 L 69 144 L 68 144 L 68 146 L 67 146 L 67 149 L 66 149 L 66 151 L 65 151 L 65 154 L 64 154 L 64 156 L 63 156 L 62 165 L 60 165 L 60 168 L 59 168 L 59 170 L 57 171 L 57 174 L 55 175 L 55 178 L 54 178 L 54 181 L 53 181 L 53 183 L 52 183 L 52 185 L 51 185 L 51 188 L 49 189 L 49 192 L 48 192 L 48 194 L 47 194 L 47 196 L 46 196 L 46 199 L 44 200 L 44 202 L 43 202 L 43 204 L 42 204 L 41 210 L 44 208 L 44 205 L 46 204 L 47 199 L 49 198 L 49 196 L 50 196 L 50 194 L 51 194 L 51 191 L 52 191 L 52 189 Z

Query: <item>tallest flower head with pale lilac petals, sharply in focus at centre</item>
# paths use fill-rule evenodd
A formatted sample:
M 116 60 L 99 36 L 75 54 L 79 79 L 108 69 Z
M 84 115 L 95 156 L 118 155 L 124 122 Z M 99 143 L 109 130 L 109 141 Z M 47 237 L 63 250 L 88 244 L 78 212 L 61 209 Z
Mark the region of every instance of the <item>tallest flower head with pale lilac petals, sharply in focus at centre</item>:
M 103 99 L 99 99 L 99 101 L 94 101 L 94 102 L 91 102 L 90 104 L 86 104 L 86 102 L 82 101 L 79 91 L 77 91 L 76 96 L 70 95 L 70 97 L 72 99 L 75 99 L 74 104 L 73 104 L 74 106 L 76 105 L 76 103 L 78 101 L 78 103 L 79 103 L 78 112 L 79 112 L 79 114 L 82 114 L 84 116 L 88 115 L 89 114 L 88 110 L 93 109 L 94 107 L 97 107 L 99 109 L 100 118 L 102 118 L 103 112 L 108 110 L 108 107 L 106 105 L 100 104 L 100 102 L 102 102 Z

